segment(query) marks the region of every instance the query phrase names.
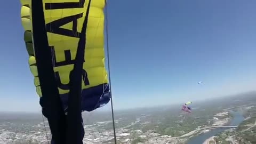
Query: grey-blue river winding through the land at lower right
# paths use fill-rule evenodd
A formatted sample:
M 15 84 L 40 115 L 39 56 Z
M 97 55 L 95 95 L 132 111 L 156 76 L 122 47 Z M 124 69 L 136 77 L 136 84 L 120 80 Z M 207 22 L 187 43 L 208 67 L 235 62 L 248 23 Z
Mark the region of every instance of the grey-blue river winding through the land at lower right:
M 239 113 L 238 111 L 230 111 L 230 113 L 233 115 L 234 118 L 231 120 L 229 125 L 239 125 L 241 122 L 244 121 L 243 115 L 241 113 Z M 190 138 L 188 140 L 187 144 L 201 144 L 206 139 L 208 139 L 214 135 L 217 135 L 227 129 L 230 129 L 230 128 L 216 128 L 216 129 L 210 130 L 209 132 L 199 134 L 195 137 Z

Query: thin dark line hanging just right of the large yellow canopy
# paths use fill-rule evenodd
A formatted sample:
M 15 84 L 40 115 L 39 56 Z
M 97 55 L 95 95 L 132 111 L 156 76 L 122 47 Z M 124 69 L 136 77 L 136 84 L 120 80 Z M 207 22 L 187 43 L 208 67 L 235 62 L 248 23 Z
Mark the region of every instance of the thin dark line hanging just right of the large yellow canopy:
M 113 100 L 112 100 L 112 90 L 111 90 L 111 78 L 110 78 L 110 60 L 109 60 L 109 44 L 108 44 L 108 5 L 107 0 L 105 0 L 105 9 L 106 9 L 106 40 L 107 40 L 107 57 L 108 57 L 108 78 L 109 78 L 109 90 L 110 90 L 110 102 L 111 102 L 111 114 L 112 114 L 112 122 L 113 122 L 113 130 L 114 130 L 114 140 L 116 142 L 116 128 L 115 128 L 115 119 L 114 119 L 114 108 L 113 108 Z

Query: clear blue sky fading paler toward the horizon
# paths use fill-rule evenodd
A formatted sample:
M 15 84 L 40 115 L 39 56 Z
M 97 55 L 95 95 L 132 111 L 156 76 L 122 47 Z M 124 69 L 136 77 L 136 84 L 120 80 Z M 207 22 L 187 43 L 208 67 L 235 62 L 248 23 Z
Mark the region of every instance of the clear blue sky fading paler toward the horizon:
M 255 90 L 255 5 L 253 0 L 109 0 L 114 107 Z M 0 110 L 38 111 L 20 6 L 5 1 L 0 9 Z

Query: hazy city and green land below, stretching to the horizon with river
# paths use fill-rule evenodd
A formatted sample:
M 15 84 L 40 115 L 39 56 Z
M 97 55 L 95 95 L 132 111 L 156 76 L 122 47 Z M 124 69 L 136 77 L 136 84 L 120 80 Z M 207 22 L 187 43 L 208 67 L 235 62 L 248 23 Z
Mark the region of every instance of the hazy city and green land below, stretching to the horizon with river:
M 234 96 L 233 101 L 194 102 L 191 114 L 181 111 L 181 105 L 116 111 L 117 143 L 253 143 L 254 94 L 244 94 L 243 99 Z M 84 143 L 114 143 L 110 112 L 83 113 L 83 118 Z M 0 113 L 1 144 L 44 144 L 50 140 L 47 119 L 43 121 L 41 114 Z

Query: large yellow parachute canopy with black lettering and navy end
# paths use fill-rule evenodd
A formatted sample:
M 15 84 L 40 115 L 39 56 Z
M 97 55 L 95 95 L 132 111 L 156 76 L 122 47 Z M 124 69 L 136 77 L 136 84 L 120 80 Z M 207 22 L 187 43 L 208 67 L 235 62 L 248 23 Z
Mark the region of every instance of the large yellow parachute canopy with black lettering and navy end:
M 34 75 L 36 92 L 39 97 L 42 97 L 33 46 L 31 0 L 21 0 L 21 4 L 21 23 L 25 30 L 24 41 L 29 55 L 29 68 Z M 68 97 L 69 73 L 74 67 L 79 41 L 77 35 L 81 34 L 86 10 L 89 6 L 82 76 L 82 99 L 97 97 L 97 100 L 99 100 L 106 96 L 107 100 L 105 101 L 108 102 L 111 96 L 104 63 L 104 0 L 91 1 L 90 5 L 89 1 L 84 0 L 79 2 L 78 0 L 55 0 L 54 3 L 51 0 L 44 0 L 43 11 L 49 43 L 49 47 L 45 47 L 45 49 L 51 49 L 52 51 L 53 70 L 59 94 L 61 97 Z

